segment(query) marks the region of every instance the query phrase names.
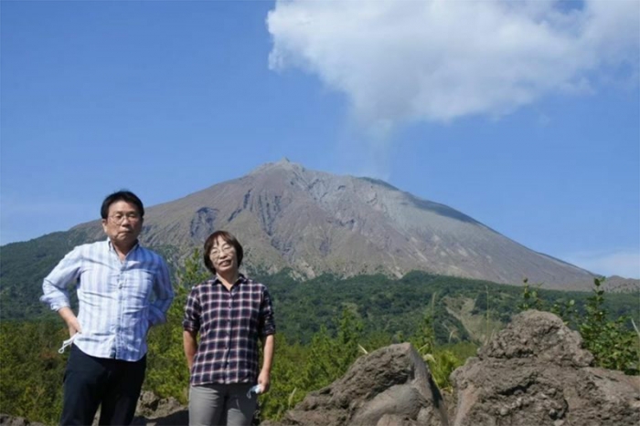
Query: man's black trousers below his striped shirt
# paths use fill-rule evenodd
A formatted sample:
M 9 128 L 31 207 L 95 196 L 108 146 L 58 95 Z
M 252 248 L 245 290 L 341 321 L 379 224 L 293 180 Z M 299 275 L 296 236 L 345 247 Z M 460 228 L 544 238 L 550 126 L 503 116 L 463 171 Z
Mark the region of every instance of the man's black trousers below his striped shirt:
M 146 356 L 139 361 L 95 358 L 73 345 L 64 376 L 60 424 L 91 425 L 98 407 L 101 425 L 128 425 L 144 381 Z

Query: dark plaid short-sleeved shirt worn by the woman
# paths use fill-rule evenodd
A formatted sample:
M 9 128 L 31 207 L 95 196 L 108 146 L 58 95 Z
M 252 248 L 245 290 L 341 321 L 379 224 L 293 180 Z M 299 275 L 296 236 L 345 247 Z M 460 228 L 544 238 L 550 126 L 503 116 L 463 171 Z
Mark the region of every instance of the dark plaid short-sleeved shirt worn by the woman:
M 240 275 L 227 290 L 219 279 L 194 286 L 182 327 L 199 331 L 191 385 L 253 383 L 258 378 L 258 339 L 275 333 L 267 287 Z

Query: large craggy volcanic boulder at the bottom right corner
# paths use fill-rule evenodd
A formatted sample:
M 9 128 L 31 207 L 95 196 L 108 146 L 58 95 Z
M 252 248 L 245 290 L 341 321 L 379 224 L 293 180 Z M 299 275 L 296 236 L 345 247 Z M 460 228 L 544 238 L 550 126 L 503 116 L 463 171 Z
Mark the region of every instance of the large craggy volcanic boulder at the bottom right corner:
M 592 362 L 559 317 L 520 314 L 453 372 L 453 426 L 640 424 L 640 378 Z

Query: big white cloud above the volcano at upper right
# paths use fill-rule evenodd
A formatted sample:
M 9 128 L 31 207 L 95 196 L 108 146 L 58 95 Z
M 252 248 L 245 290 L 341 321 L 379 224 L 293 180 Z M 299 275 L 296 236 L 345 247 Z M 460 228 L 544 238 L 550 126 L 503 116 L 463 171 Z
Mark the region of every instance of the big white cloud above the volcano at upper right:
M 384 134 L 635 75 L 639 14 L 635 0 L 278 0 L 269 66 L 314 74 Z

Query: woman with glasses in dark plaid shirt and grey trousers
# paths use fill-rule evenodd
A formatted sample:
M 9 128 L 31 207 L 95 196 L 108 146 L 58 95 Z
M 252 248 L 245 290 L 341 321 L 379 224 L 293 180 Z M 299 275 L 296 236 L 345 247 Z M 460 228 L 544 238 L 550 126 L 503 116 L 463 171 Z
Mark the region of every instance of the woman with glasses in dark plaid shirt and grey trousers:
M 267 287 L 240 274 L 242 246 L 217 231 L 205 242 L 204 261 L 215 276 L 191 289 L 183 338 L 189 366 L 189 425 L 249 425 L 260 392 L 270 387 L 273 309 Z M 200 341 L 197 342 L 199 334 Z M 258 371 L 258 339 L 263 361 Z

